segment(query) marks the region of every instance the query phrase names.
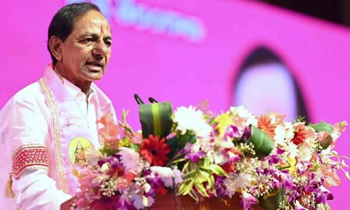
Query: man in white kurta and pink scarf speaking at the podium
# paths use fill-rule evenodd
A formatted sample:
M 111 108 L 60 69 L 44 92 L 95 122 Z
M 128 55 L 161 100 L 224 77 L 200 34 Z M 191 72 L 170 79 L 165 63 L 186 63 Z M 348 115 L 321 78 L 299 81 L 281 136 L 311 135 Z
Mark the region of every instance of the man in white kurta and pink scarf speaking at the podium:
M 116 120 L 111 101 L 92 83 L 105 72 L 111 43 L 110 25 L 96 5 L 74 3 L 52 19 L 52 64 L 0 111 L 0 169 L 7 179 L 10 174 L 6 192 L 16 208 L 56 210 L 76 193 L 72 170 L 83 165 L 86 148 L 103 145 L 97 119 L 112 113 Z

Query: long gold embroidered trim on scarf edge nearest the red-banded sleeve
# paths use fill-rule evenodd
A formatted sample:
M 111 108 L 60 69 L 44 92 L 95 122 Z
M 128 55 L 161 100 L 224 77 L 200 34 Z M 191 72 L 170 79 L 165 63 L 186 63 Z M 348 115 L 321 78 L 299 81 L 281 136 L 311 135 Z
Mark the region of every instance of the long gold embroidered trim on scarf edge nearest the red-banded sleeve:
M 49 102 L 52 111 L 52 121 L 54 123 L 54 137 L 55 137 L 55 150 L 56 150 L 56 164 L 58 169 L 59 186 L 64 193 L 67 193 L 67 181 L 63 168 L 62 158 L 62 146 L 61 146 L 61 133 L 59 132 L 58 117 L 56 111 L 56 104 L 51 96 L 49 87 L 45 82 L 44 78 L 39 79 L 42 90 L 44 91 L 45 97 Z

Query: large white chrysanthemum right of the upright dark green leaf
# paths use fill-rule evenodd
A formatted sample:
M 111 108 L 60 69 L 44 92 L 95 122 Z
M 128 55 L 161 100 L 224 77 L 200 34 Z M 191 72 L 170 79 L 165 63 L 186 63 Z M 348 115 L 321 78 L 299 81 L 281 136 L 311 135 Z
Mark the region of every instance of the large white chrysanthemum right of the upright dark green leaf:
M 204 120 L 204 115 L 201 110 L 196 110 L 195 107 L 178 107 L 174 112 L 174 123 L 177 123 L 176 129 L 185 134 L 186 131 L 193 131 L 198 137 L 205 137 L 212 131 L 211 126 Z

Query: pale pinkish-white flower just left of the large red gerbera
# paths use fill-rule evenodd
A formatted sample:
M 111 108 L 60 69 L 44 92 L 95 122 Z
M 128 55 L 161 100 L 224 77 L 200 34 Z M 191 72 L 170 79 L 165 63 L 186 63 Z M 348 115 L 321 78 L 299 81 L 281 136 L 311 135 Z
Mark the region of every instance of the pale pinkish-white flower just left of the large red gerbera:
M 125 170 L 139 173 L 142 170 L 139 153 L 127 147 L 120 147 L 119 149 L 120 162 L 123 163 Z

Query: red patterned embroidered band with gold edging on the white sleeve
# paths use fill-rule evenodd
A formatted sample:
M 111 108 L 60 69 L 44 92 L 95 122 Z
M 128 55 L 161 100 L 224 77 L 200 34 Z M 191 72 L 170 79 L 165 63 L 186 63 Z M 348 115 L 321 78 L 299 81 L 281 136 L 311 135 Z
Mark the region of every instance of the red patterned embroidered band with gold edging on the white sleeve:
M 49 159 L 47 149 L 43 145 L 23 145 L 16 149 L 12 156 L 12 173 L 15 179 L 32 169 L 44 169 L 49 171 Z

